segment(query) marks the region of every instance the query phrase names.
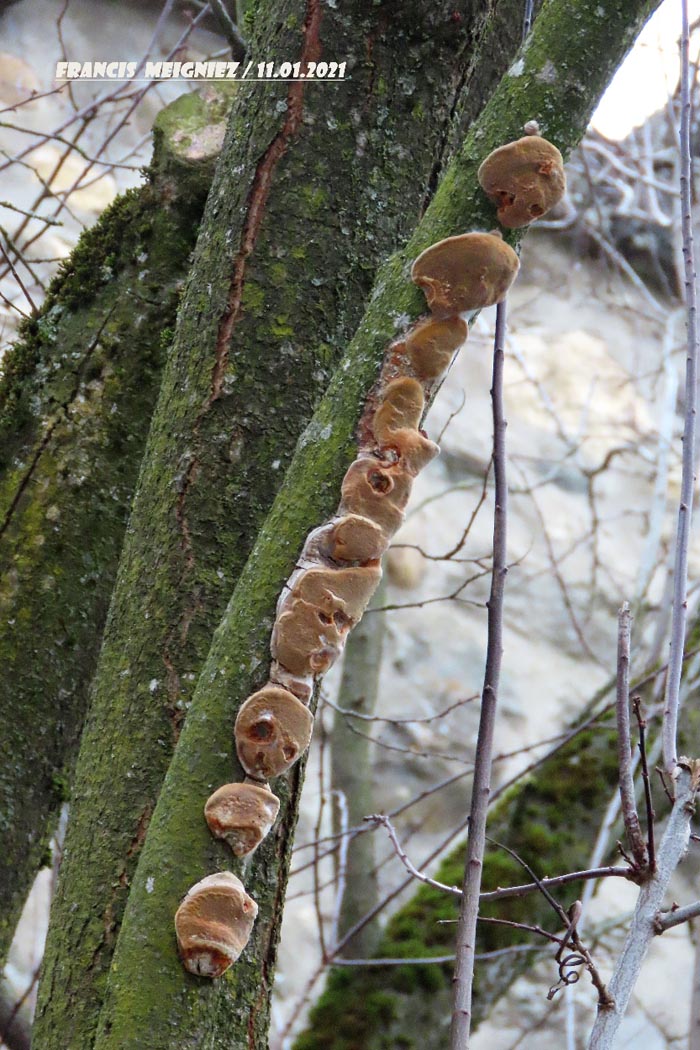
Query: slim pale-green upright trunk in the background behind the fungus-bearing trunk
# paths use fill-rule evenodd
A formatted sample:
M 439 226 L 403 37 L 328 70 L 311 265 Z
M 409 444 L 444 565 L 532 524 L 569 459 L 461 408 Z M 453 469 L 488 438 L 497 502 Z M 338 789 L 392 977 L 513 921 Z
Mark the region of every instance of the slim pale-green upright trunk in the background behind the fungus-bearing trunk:
M 373 606 L 383 605 L 384 587 L 380 585 Z M 372 607 L 370 606 L 370 609 Z M 374 715 L 379 691 L 386 620 L 366 615 L 351 634 L 345 648 L 343 673 L 338 690 L 338 707 L 359 715 Z M 369 723 L 372 724 L 372 723 Z M 331 734 L 331 788 L 342 794 L 347 827 L 355 827 L 376 812 L 373 790 L 372 743 L 366 721 L 352 714 L 334 713 Z M 336 834 L 342 831 L 338 819 L 340 805 L 334 798 Z M 338 916 L 338 937 L 343 937 L 378 901 L 375 839 L 360 835 L 347 843 L 344 888 Z M 376 923 L 367 923 L 348 941 L 343 954 L 366 959 L 379 938 Z

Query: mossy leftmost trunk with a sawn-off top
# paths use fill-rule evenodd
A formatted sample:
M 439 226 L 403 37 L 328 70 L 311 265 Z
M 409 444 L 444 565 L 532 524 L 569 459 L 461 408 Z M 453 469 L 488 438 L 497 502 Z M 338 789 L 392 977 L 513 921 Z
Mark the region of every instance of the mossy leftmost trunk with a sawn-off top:
M 0 960 L 66 797 L 220 96 L 161 114 L 148 183 L 87 231 L 0 380 Z M 228 105 L 228 102 L 226 103 Z

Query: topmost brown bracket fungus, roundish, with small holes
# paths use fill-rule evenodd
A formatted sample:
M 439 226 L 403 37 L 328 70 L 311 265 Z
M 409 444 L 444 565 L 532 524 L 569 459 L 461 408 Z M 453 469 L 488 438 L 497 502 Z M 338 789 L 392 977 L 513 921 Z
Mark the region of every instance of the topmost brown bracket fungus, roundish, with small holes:
M 479 169 L 479 182 L 496 205 L 499 222 L 509 229 L 547 214 L 567 188 L 561 154 L 535 134 L 489 153 Z

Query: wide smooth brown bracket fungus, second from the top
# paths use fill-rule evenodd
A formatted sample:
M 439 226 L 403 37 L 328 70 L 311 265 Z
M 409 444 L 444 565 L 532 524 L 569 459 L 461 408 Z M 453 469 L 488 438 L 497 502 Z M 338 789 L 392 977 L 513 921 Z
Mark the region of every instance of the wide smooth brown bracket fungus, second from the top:
M 519 262 L 494 233 L 463 233 L 431 245 L 410 271 L 439 318 L 492 307 L 505 297 Z

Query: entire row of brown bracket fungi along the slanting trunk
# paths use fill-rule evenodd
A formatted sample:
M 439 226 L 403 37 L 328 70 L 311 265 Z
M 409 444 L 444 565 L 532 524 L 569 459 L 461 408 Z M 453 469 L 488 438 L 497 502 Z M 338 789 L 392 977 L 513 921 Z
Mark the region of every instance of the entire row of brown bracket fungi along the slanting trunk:
M 479 181 L 497 206 L 500 223 L 526 226 L 565 191 L 561 154 L 530 133 L 494 150 Z M 205 806 L 214 836 L 236 857 L 247 857 L 268 835 L 279 812 L 269 780 L 304 753 L 314 716 L 315 680 L 342 652 L 379 581 L 380 560 L 400 527 L 413 478 L 439 448 L 420 429 L 425 395 L 445 374 L 467 337 L 467 311 L 500 302 L 518 270 L 515 252 L 500 233 L 447 237 L 422 252 L 411 269 L 429 314 L 387 349 L 379 380 L 359 426 L 358 455 L 342 482 L 336 516 L 314 529 L 277 603 L 270 680 L 245 701 L 234 728 L 247 773 L 242 783 L 219 788 Z M 243 950 L 257 905 L 230 872 L 193 886 L 175 916 L 185 967 L 216 978 Z

